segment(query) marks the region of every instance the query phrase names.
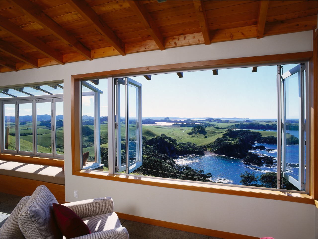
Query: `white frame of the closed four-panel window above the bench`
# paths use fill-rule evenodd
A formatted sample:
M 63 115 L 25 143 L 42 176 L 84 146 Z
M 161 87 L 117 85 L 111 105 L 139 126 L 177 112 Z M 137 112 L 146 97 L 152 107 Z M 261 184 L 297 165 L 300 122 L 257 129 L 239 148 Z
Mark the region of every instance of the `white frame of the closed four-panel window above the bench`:
M 36 138 L 37 138 L 37 123 L 36 123 L 36 115 L 35 115 L 35 107 L 36 107 L 36 101 L 42 101 L 42 100 L 47 100 L 47 102 L 51 102 L 51 109 L 55 109 L 55 106 L 53 106 L 53 102 L 55 99 L 57 99 L 58 101 L 63 101 L 63 94 L 56 94 L 56 95 L 42 95 L 42 96 L 26 96 L 26 97 L 17 97 L 17 98 L 1 98 L 0 99 L 0 103 L 1 103 L 1 111 L 0 111 L 0 115 L 1 115 L 1 120 L 0 120 L 0 127 L 3 129 L 4 128 L 4 108 L 3 105 L 4 104 L 10 104 L 10 102 L 12 102 L 12 104 L 15 104 L 15 111 L 16 111 L 16 135 L 19 133 L 19 122 L 18 122 L 18 111 L 19 111 L 19 102 L 24 102 L 24 103 L 32 103 L 32 141 L 33 141 L 33 151 L 32 152 L 26 152 L 26 151 L 21 151 L 20 147 L 19 147 L 19 136 L 16 137 L 16 150 L 9 150 L 9 149 L 4 149 L 4 132 L 3 130 L 1 130 L 0 132 L 0 137 L 1 137 L 1 144 L 0 144 L 0 149 L 1 149 L 1 153 L 9 153 L 9 154 L 15 154 L 15 155 L 21 155 L 21 156 L 38 156 L 38 157 L 46 157 L 46 158 L 56 158 L 56 159 L 64 159 L 64 155 L 61 154 L 55 154 L 53 152 L 56 151 L 56 130 L 54 127 L 54 131 L 51 128 L 51 141 L 55 141 L 52 143 L 52 148 L 53 145 L 55 145 L 54 151 L 52 149 L 52 154 L 47 154 L 47 153 L 37 153 L 35 150 L 35 148 L 37 148 L 37 146 L 35 146 L 36 143 Z M 13 103 L 14 102 L 14 103 Z M 23 103 L 22 103 L 23 104 Z M 52 105 L 53 104 L 53 105 Z M 53 119 L 55 119 L 55 112 L 53 113 Z M 52 114 L 51 114 L 51 124 L 52 124 Z M 55 124 L 55 121 L 54 121 Z M 54 133 L 53 133 L 54 132 Z

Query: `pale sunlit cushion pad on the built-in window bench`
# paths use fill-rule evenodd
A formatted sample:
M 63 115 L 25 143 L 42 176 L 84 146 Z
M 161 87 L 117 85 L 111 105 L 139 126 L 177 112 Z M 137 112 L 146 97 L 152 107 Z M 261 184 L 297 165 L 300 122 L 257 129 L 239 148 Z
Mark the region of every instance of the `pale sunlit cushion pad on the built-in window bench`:
M 0 160 L 0 174 L 65 185 L 60 167 Z

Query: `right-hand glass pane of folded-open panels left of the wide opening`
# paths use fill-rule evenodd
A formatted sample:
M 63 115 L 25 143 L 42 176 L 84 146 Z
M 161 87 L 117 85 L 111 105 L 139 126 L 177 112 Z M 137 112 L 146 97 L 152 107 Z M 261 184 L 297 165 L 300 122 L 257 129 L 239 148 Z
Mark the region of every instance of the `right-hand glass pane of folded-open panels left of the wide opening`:
M 128 141 L 129 141 L 129 164 L 137 161 L 137 121 L 138 119 L 138 88 L 128 85 Z

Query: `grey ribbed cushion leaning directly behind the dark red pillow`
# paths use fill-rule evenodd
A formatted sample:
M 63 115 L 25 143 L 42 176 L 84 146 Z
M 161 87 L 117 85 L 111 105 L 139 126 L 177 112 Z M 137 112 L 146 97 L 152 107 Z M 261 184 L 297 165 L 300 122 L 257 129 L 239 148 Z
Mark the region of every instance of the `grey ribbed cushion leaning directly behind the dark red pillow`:
M 19 227 L 26 239 L 62 239 L 53 214 L 52 204 L 58 203 L 45 185 L 40 185 L 18 216 Z

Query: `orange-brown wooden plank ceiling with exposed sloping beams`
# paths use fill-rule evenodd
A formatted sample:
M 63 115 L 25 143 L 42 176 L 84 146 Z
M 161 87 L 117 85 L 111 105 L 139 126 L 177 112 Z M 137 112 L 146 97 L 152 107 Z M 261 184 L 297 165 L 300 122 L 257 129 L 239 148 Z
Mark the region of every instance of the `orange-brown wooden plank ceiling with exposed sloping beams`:
M 0 0 L 0 72 L 313 30 L 317 0 Z

